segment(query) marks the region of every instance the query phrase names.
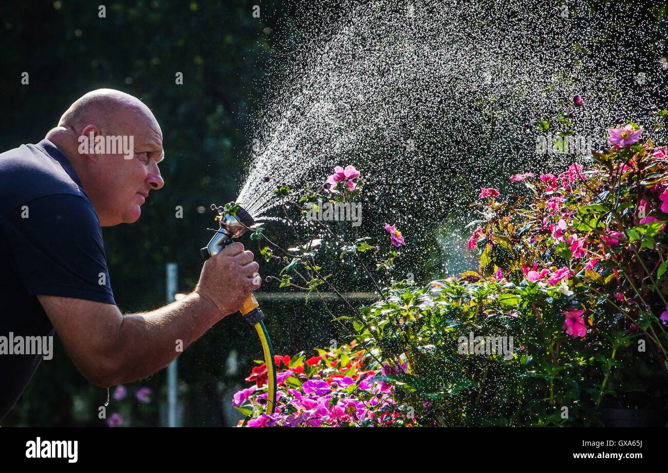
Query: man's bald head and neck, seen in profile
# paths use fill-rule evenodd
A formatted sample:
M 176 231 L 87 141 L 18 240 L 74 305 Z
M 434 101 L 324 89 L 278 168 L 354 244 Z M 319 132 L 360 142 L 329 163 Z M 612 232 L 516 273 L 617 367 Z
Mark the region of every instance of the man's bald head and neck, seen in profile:
M 160 125 L 141 100 L 120 90 L 81 96 L 46 138 L 71 162 L 102 226 L 134 222 L 149 191 L 164 184 L 158 170 L 164 158 Z M 95 148 L 80 146 L 91 140 Z M 132 150 L 104 146 L 116 142 L 131 144 Z

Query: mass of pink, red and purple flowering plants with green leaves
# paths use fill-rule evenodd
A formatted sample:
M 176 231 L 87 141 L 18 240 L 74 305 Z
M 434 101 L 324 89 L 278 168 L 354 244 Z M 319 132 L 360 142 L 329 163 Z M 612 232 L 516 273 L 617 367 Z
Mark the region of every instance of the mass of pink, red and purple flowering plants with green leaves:
M 468 241 L 476 271 L 393 282 L 370 307 L 345 301 L 351 315 L 339 320 L 357 354 L 319 351 L 323 366 L 301 372 L 301 361 L 284 362 L 279 413 L 260 414 L 258 384 L 235 400 L 249 403 L 244 425 L 589 426 L 603 424 L 605 407 L 667 410 L 668 150 L 642 135 L 636 124 L 611 128 L 587 168 L 510 178 L 528 192 L 482 188 Z M 347 192 L 359 186 L 335 198 Z M 344 248 L 359 258 L 377 249 L 367 240 Z M 396 256 L 376 269 L 389 275 Z M 285 263 L 282 274 L 303 265 L 319 281 L 301 275 L 301 289 L 329 285 L 311 251 Z

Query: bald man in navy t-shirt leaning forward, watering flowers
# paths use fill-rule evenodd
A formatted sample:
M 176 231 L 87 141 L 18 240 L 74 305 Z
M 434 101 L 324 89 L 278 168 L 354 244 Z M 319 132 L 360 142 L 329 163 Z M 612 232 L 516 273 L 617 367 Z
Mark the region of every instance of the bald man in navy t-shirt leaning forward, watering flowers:
M 121 137 L 134 149 L 124 156 L 94 148 L 104 146 L 98 137 Z M 168 365 L 178 341 L 187 347 L 260 286 L 253 253 L 233 243 L 204 263 L 198 285 L 181 301 L 120 313 L 100 227 L 139 218 L 150 190 L 164 185 L 162 158 L 162 131 L 148 107 L 110 89 L 79 98 L 39 144 L 0 154 L 0 337 L 44 337 L 55 329 L 77 369 L 109 387 Z M 43 356 L 2 353 L 0 419 Z

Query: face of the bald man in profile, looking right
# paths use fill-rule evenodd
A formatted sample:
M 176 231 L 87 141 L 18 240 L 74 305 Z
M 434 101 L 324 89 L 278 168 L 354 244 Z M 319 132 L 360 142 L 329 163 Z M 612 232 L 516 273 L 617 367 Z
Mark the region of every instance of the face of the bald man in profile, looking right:
M 145 114 L 129 114 L 127 119 L 127 126 L 122 128 L 129 134 L 121 136 L 127 144 L 132 137 L 132 158 L 126 159 L 122 150 L 98 155 L 94 164 L 96 185 L 90 192 L 86 189 L 102 226 L 135 222 L 150 190 L 164 185 L 158 169 L 158 162 L 164 157 L 160 126 Z

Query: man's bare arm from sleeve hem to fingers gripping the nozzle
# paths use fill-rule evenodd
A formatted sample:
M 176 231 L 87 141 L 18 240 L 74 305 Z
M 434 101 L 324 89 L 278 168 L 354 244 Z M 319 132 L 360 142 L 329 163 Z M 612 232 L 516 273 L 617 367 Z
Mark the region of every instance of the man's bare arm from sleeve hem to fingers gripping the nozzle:
M 182 299 L 148 313 L 122 315 L 116 305 L 38 295 L 77 369 L 109 387 L 160 371 L 214 323 L 238 310 L 259 287 L 253 253 L 232 243 L 204 263 L 200 282 Z M 256 284 L 257 283 L 257 284 Z

